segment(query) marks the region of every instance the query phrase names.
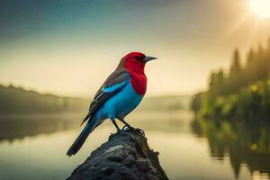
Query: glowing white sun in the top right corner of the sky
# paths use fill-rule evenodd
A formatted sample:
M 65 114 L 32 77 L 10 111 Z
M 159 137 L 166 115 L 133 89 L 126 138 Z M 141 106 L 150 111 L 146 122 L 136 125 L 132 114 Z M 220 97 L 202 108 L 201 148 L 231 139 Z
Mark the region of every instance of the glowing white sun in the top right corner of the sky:
M 253 14 L 260 18 L 270 18 L 270 0 L 250 0 Z

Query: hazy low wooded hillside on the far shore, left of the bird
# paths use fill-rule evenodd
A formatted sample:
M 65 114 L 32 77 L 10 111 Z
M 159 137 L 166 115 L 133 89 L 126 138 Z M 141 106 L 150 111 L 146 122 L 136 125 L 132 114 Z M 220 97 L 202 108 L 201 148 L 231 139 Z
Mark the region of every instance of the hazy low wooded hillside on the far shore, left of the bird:
M 40 94 L 13 85 L 0 85 L 0 115 L 85 111 L 88 100 Z

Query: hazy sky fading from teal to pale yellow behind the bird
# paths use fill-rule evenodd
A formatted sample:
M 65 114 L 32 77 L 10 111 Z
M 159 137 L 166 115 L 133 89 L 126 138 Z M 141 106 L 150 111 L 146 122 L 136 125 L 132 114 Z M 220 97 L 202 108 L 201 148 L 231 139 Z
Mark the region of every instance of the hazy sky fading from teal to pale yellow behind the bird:
M 270 7 L 269 7 L 270 11 Z M 146 66 L 148 94 L 194 94 L 270 37 L 248 0 L 0 0 L 0 84 L 91 97 L 130 51 Z

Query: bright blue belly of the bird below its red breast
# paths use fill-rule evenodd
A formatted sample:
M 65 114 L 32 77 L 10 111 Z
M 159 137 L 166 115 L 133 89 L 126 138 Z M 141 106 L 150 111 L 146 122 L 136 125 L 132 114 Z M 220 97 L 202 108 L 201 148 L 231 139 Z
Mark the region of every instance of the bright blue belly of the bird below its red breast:
M 130 82 L 118 94 L 103 104 L 96 116 L 98 119 L 124 118 L 141 102 L 143 95 L 137 94 Z

